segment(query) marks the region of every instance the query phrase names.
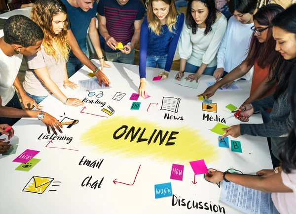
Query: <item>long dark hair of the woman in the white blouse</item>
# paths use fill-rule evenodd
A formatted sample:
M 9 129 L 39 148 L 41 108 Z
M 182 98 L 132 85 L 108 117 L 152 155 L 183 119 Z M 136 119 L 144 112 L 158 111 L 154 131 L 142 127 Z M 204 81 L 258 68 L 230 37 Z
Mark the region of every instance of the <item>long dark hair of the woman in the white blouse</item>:
M 193 1 L 202 2 L 209 10 L 209 14 L 205 21 L 206 30 L 204 32 L 204 35 L 207 35 L 210 31 L 212 31 L 212 25 L 215 23 L 217 19 L 217 8 L 216 8 L 215 0 L 189 0 L 188 1 L 185 22 L 186 22 L 187 28 L 192 29 L 192 34 L 196 34 L 197 24 L 191 14 Z

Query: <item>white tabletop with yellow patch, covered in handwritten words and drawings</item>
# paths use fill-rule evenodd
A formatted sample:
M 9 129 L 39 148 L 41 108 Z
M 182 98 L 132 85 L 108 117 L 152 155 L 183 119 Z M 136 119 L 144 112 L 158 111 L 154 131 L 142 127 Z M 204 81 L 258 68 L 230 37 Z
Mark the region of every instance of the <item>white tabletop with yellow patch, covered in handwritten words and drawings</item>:
M 98 60 L 95 62 L 98 63 Z M 111 68 L 104 68 L 104 73 L 111 79 L 112 87 L 94 91 L 96 94 L 102 91 L 103 97 L 89 97 L 87 91 L 63 89 L 68 97 L 89 100 L 85 104 L 86 108 L 63 105 L 54 96 L 41 102 L 44 111 L 57 119 L 63 120 L 67 117 L 67 120 L 79 121 L 71 128 L 65 126 L 63 134 L 59 134 L 60 138 L 68 139 L 50 139 L 51 135 L 46 135 L 46 127 L 33 119 L 21 119 L 13 126 L 15 136 L 11 143 L 18 144 L 17 152 L 14 155 L 0 156 L 0 202 L 3 205 L 1 213 L 210 213 L 204 209 L 188 210 L 179 206 L 176 199 L 180 197 L 185 199 L 185 203 L 194 201 L 201 202 L 202 205 L 208 203 L 208 206 L 219 205 L 225 209 L 226 214 L 240 214 L 239 211 L 219 201 L 221 189 L 216 184 L 207 182 L 203 175 L 196 175 L 197 183 L 193 184 L 191 181 L 194 181 L 194 173 L 188 162 L 204 159 L 208 168 L 221 171 L 234 168 L 244 173 L 272 169 L 266 138 L 240 136 L 236 140 L 241 142 L 243 153 L 231 152 L 230 148 L 218 147 L 218 134 L 209 130 L 217 122 L 202 119 L 204 114 L 214 118 L 216 115 L 220 118 L 228 117 L 230 114 L 223 111 L 226 110 L 224 106 L 229 103 L 239 106 L 249 95 L 250 82 L 238 81 L 242 91 L 216 92 L 212 99 L 218 104 L 218 112 L 211 113 L 201 111 L 202 101 L 198 100 L 196 95 L 205 90 L 205 82 L 215 81 L 212 76 L 202 76 L 198 88 L 192 89 L 171 83 L 177 71 L 171 71 L 167 80 L 152 82 L 152 78 L 161 70 L 147 68 L 147 88 L 151 97 L 132 101 L 129 98 L 132 93 L 137 93 L 139 86 L 139 67 L 120 63 L 109 64 Z M 78 80 L 89 79 L 86 76 L 88 72 L 89 70 L 83 67 L 71 80 L 78 83 Z M 112 99 L 116 92 L 126 95 L 117 101 Z M 181 98 L 178 113 L 160 110 L 164 96 Z M 101 104 L 90 103 L 90 100 L 99 100 L 96 103 Z M 104 107 L 102 102 L 106 102 Z M 130 110 L 133 102 L 141 102 L 140 110 Z M 113 115 L 109 116 L 101 111 L 102 108 L 108 109 L 107 106 L 114 109 Z M 166 114 L 173 116 L 172 120 L 166 119 Z M 184 120 L 175 120 L 174 116 L 183 117 Z M 227 126 L 237 123 L 238 120 L 233 118 L 226 121 Z M 250 123 L 262 123 L 261 116 L 252 116 Z M 147 128 L 143 138 L 149 138 L 154 129 L 161 129 L 163 133 L 166 130 L 179 133 L 174 135 L 176 139 L 171 140 L 175 142 L 173 146 L 165 146 L 167 140 L 162 145 L 159 145 L 159 140 L 155 143 L 152 141 L 149 145 L 147 141 L 137 143 L 139 135 L 133 141 L 130 141 L 131 135 L 125 140 L 126 134 L 114 139 L 115 130 L 124 125 L 128 128 L 134 126 L 135 130 L 142 128 L 140 132 Z M 115 137 L 121 132 L 122 129 L 115 133 Z M 70 140 L 70 137 L 73 138 Z M 229 137 L 229 144 L 230 140 L 233 138 Z M 20 163 L 12 161 L 26 149 L 40 151 L 35 158 L 41 161 L 28 172 L 16 171 L 15 168 Z M 104 161 L 98 169 L 84 166 L 85 159 L 92 162 L 97 160 L 99 163 L 103 159 Z M 170 179 L 172 164 L 185 165 L 183 181 Z M 42 194 L 22 191 L 33 176 L 54 180 Z M 86 183 L 83 181 L 88 180 L 90 176 L 93 185 L 96 180 L 97 185 L 102 181 L 101 188 L 91 188 L 91 184 L 85 186 Z M 167 182 L 172 183 L 175 196 L 154 199 L 154 185 Z M 172 201 L 173 199 L 175 201 Z

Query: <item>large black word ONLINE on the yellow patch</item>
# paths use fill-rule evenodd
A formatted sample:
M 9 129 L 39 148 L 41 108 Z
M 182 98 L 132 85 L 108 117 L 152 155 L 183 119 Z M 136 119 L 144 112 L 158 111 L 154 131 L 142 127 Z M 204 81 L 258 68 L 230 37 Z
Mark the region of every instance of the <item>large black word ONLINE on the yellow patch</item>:
M 138 128 L 137 131 L 135 131 L 135 127 L 131 127 L 129 130 L 128 130 L 128 126 L 126 125 L 123 125 L 121 126 L 120 128 L 116 129 L 113 133 L 113 138 L 115 140 L 118 140 L 120 139 L 121 137 L 124 137 L 124 139 L 126 140 L 129 135 L 131 135 L 131 139 L 130 139 L 130 142 L 132 142 L 133 140 L 136 139 L 137 135 L 140 133 L 142 128 Z M 152 134 L 150 135 L 149 139 L 148 138 L 144 138 L 143 135 L 146 131 L 146 128 L 143 128 L 142 132 L 140 133 L 138 139 L 137 139 L 137 143 L 139 142 L 144 142 L 144 141 L 148 141 L 148 145 L 151 143 L 157 129 L 154 129 L 154 131 L 152 132 Z M 163 135 L 163 131 L 162 130 L 158 130 L 157 134 L 155 135 L 154 137 L 154 140 L 153 140 L 153 143 L 155 143 L 158 138 L 159 138 L 159 145 L 163 144 L 163 142 L 165 141 L 165 139 L 167 138 L 167 141 L 166 141 L 166 146 L 172 146 L 175 144 L 175 142 L 170 142 L 170 140 L 174 140 L 176 139 L 177 137 L 174 137 L 174 135 L 178 134 L 179 132 L 178 131 L 171 131 L 169 137 L 167 138 L 168 134 L 169 134 L 169 131 L 166 131 Z

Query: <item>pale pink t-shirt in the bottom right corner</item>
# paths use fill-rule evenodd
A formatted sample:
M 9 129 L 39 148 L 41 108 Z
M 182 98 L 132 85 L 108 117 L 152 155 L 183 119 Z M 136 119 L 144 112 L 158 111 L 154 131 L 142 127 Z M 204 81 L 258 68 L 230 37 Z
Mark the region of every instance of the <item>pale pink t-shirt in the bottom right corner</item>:
M 289 193 L 272 193 L 272 201 L 280 214 L 296 213 L 296 170 L 281 173 L 285 186 L 293 190 Z

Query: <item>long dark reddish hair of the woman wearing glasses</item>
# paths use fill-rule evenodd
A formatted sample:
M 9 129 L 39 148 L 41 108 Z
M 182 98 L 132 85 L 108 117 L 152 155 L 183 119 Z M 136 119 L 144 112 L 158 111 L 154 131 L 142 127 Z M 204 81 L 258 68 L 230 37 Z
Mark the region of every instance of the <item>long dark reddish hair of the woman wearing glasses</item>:
M 272 22 L 271 20 L 284 8 L 278 4 L 267 4 L 261 7 L 253 16 L 259 25 L 268 26 L 267 39 L 264 43 L 259 43 L 253 34 L 250 49 L 247 56 L 247 65 L 253 66 L 255 62 L 260 68 L 268 67 L 269 74 L 276 68 L 277 64 L 281 64 L 283 57 L 275 50 L 276 42 L 272 38 Z

